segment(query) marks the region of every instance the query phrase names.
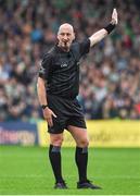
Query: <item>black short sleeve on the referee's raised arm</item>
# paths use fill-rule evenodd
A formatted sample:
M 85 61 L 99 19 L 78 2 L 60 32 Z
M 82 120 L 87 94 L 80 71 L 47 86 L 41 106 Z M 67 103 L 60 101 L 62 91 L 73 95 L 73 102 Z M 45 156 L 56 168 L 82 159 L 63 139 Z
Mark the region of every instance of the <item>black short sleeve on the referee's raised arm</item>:
M 90 39 L 85 39 L 82 42 L 79 42 L 80 57 L 88 53 L 89 49 L 90 49 Z

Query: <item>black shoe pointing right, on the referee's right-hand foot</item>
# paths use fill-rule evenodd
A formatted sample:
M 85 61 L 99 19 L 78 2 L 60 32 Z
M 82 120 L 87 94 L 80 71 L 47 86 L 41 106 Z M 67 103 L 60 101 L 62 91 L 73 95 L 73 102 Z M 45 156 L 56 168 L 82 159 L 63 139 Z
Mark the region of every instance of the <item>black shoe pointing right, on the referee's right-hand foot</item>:
M 90 181 L 78 182 L 77 188 L 91 188 L 91 189 L 102 189 L 100 186 L 92 184 Z

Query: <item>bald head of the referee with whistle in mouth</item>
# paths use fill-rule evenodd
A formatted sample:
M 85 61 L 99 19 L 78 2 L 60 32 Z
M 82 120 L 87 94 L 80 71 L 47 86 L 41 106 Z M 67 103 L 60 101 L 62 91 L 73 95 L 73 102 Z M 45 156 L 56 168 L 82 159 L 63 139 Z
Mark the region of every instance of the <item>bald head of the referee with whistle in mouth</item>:
M 58 33 L 58 39 L 59 47 L 65 51 L 68 51 L 73 40 L 75 39 L 73 26 L 67 23 L 61 25 Z

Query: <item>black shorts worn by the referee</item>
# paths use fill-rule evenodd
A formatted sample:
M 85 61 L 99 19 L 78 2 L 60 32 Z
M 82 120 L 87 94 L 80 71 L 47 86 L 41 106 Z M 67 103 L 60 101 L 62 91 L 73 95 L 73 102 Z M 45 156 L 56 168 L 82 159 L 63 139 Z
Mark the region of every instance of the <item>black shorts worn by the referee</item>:
M 77 99 L 68 100 L 54 95 L 48 95 L 48 106 L 55 113 L 53 126 L 48 125 L 48 132 L 51 134 L 63 133 L 68 130 L 68 125 L 86 127 L 82 109 Z

